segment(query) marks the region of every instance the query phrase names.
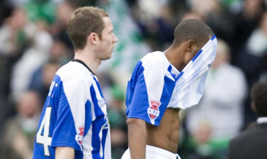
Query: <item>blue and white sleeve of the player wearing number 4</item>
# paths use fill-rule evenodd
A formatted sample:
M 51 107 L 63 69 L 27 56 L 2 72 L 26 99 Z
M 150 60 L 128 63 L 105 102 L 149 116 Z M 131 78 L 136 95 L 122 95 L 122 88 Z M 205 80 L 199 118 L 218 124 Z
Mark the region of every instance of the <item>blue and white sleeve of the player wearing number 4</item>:
M 70 76 L 64 81 L 51 147 L 66 146 L 82 151 L 84 129 L 88 129 L 85 128 L 85 112 L 91 116 L 90 86 L 90 81 L 81 75 Z M 91 119 L 86 121 L 88 125 L 91 123 Z

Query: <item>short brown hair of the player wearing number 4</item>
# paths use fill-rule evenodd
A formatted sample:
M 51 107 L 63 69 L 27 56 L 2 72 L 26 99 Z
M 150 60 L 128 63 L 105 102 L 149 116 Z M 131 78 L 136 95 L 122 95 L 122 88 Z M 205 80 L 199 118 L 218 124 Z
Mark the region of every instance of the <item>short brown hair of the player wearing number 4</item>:
M 102 37 L 105 16 L 109 14 L 97 7 L 81 7 L 74 11 L 68 21 L 68 35 L 72 39 L 75 50 L 84 49 L 87 36 L 92 32 Z

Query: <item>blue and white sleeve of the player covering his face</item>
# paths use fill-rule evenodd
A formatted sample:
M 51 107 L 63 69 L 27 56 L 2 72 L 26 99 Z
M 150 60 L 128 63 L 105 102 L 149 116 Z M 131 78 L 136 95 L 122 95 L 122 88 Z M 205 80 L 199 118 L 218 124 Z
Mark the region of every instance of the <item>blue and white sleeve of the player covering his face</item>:
M 135 66 L 128 81 L 126 114 L 158 126 L 170 101 L 179 72 L 163 52 L 152 52 Z

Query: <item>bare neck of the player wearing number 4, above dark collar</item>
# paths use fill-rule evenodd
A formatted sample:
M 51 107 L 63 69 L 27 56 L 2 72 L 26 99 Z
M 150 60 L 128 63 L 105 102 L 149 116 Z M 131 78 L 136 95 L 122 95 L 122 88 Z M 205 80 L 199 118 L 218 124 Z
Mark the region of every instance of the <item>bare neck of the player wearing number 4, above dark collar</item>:
M 84 62 L 94 73 L 96 73 L 98 67 L 101 64 L 101 60 L 96 58 L 93 53 L 86 50 L 75 51 L 75 59 L 80 59 Z

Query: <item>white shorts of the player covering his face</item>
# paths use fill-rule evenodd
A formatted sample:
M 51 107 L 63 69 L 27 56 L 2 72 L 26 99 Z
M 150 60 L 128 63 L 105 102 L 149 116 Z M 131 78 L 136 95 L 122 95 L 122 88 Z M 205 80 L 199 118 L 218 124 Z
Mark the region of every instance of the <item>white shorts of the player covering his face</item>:
M 124 152 L 121 159 L 131 159 L 129 149 Z M 181 159 L 181 157 L 177 153 L 146 145 L 146 159 Z

